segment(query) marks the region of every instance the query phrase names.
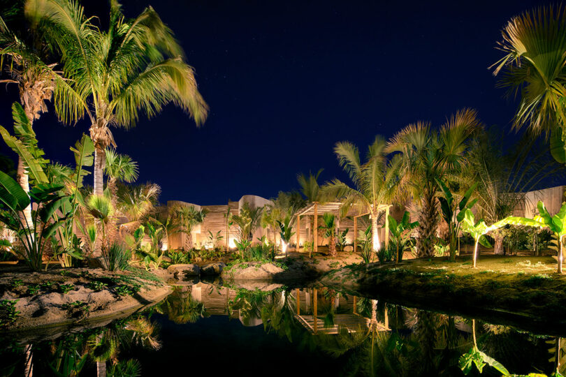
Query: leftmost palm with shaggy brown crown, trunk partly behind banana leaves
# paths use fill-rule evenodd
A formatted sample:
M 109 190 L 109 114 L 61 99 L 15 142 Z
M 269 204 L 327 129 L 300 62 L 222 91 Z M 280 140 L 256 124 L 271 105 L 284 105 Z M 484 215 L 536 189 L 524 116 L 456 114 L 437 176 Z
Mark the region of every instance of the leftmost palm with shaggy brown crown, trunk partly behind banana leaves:
M 65 122 L 78 120 L 82 111 L 78 107 L 82 108 L 84 102 L 61 77 L 61 73 L 54 70 L 57 63 L 47 63 L 54 60 L 49 56 L 48 45 L 42 38 L 43 32 L 29 29 L 20 4 L 3 9 L 1 14 L 7 15 L 8 19 L 0 17 L 0 57 L 7 58 L 8 73 L 12 78 L 0 82 L 17 84 L 20 103 L 30 125 L 48 110 L 46 102 L 52 99 L 59 119 Z M 19 157 L 17 182 L 29 193 L 27 168 Z M 24 209 L 23 216 L 28 224 L 32 223 L 31 204 Z

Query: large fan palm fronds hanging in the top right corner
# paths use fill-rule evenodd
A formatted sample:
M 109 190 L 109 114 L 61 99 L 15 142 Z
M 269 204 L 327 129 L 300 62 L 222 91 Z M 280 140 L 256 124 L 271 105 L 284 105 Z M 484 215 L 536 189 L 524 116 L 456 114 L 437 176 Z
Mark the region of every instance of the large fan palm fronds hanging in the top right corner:
M 565 140 L 566 7 L 542 6 L 513 17 L 502 29 L 498 49 L 505 55 L 492 68 L 504 72 L 500 87 L 520 102 L 514 127 Z M 564 155 L 564 150 L 562 151 Z M 561 161 L 564 163 L 565 161 Z

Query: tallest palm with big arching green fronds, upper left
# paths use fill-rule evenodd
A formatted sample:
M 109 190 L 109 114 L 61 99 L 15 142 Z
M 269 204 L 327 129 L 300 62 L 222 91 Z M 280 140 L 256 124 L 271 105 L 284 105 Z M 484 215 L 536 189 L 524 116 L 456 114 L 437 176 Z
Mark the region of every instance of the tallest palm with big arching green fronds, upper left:
M 196 87 L 194 70 L 184 62 L 173 32 L 152 7 L 128 20 L 117 1 L 110 1 L 108 31 L 92 24 L 75 0 L 28 0 L 27 14 L 52 25 L 50 42 L 64 57 L 64 71 L 87 109 L 95 149 L 94 193 L 103 191 L 104 150 L 113 145 L 109 126 L 129 128 L 139 110 L 153 117 L 168 103 L 205 121 L 208 106 Z

